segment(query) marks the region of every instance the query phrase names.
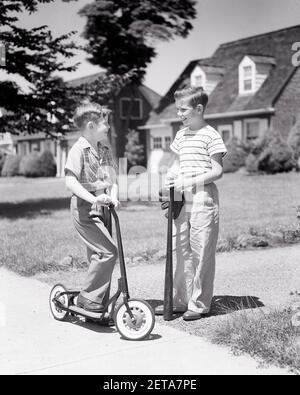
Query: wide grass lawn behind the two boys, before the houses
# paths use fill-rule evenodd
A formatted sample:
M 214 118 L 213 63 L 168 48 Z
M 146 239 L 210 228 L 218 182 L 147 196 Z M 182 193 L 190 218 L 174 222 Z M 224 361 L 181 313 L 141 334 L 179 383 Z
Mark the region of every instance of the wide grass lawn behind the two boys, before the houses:
M 300 174 L 227 174 L 218 185 L 220 239 L 251 228 L 297 227 Z M 69 196 L 61 179 L 0 178 L 0 266 L 31 275 L 61 268 L 59 262 L 68 255 L 80 266 L 85 248 L 72 228 Z M 166 219 L 159 203 L 129 203 L 120 211 L 120 220 L 126 257 L 163 257 Z

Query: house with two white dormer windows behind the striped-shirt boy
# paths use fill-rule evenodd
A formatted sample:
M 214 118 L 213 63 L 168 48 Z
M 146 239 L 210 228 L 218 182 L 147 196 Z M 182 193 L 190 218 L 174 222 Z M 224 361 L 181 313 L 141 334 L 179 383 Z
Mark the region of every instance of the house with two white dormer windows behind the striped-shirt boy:
M 148 167 L 157 172 L 181 127 L 174 92 L 188 85 L 207 91 L 206 120 L 225 142 L 271 129 L 287 137 L 300 113 L 300 68 L 292 62 L 299 41 L 300 25 L 225 43 L 210 58 L 191 61 L 141 128 Z

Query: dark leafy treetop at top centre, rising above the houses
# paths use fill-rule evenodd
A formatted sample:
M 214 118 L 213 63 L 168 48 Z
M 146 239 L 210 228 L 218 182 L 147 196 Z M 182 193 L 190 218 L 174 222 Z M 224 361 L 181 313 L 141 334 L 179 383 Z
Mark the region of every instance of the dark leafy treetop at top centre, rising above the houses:
M 196 17 L 195 0 L 96 0 L 79 14 L 87 18 L 83 36 L 89 61 L 108 73 L 137 69 L 141 81 L 156 56 L 154 43 L 187 37 Z

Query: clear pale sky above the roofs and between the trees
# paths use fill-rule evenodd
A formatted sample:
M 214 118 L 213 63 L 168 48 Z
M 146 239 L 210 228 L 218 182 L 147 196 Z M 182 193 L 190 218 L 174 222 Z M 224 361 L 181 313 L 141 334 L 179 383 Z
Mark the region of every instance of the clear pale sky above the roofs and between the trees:
M 19 24 L 22 27 L 46 24 L 55 36 L 76 30 L 74 40 L 83 44 L 81 33 L 86 19 L 78 11 L 91 2 L 55 0 L 40 5 L 35 14 L 23 14 Z M 220 44 L 298 24 L 300 0 L 197 0 L 193 31 L 186 39 L 157 43 L 157 57 L 147 69 L 145 84 L 163 95 L 191 60 L 211 56 Z M 78 70 L 62 76 L 70 80 L 100 70 L 85 59 L 86 54 L 79 53 L 75 58 L 81 62 Z

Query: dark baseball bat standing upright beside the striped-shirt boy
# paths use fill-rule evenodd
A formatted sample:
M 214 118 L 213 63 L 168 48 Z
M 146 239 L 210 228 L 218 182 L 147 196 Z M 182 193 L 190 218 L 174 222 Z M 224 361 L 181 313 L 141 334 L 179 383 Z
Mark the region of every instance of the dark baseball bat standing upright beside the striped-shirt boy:
M 167 257 L 165 271 L 165 293 L 164 293 L 164 320 L 173 318 L 173 207 L 174 188 L 170 188 L 170 202 L 168 208 L 168 235 L 167 235 Z

